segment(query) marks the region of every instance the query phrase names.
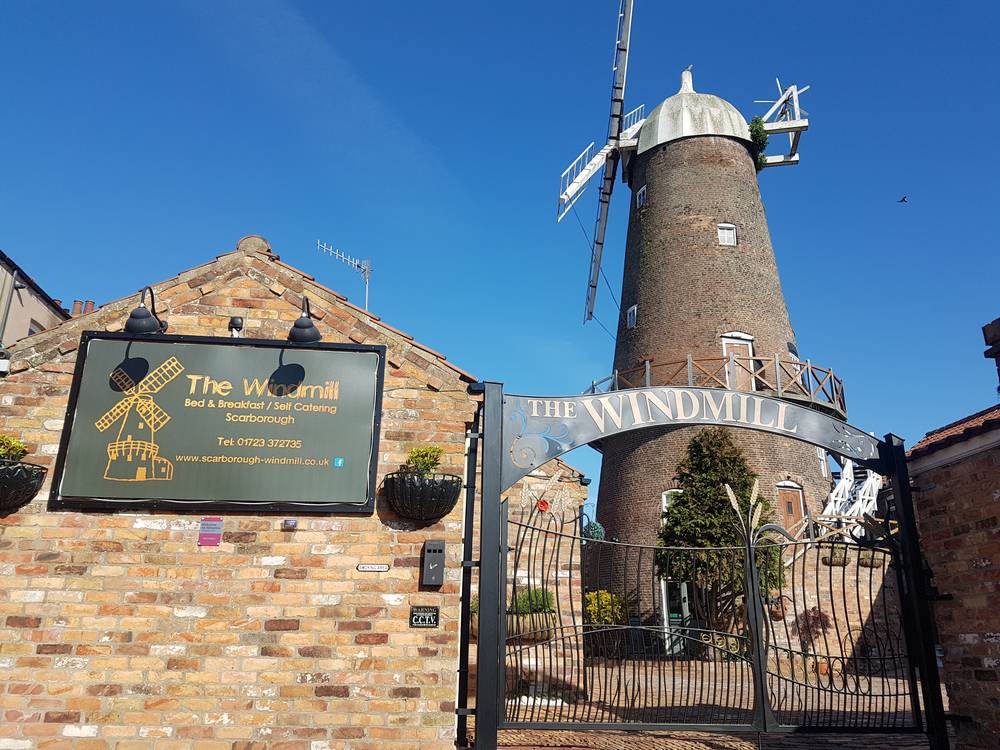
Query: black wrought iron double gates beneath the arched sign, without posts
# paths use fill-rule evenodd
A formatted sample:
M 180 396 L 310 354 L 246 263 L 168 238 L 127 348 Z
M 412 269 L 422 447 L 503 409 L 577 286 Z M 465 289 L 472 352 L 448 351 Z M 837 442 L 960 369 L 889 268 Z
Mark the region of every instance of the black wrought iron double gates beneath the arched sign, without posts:
M 891 537 L 667 548 L 587 522 L 507 508 L 501 728 L 920 728 Z

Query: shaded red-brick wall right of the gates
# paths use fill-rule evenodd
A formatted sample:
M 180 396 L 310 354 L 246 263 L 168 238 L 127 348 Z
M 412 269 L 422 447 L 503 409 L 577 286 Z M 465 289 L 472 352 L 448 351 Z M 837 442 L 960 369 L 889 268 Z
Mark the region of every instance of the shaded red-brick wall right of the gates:
M 956 750 L 997 747 L 1000 737 L 1000 436 L 966 451 L 960 441 L 910 461 L 921 546 L 935 586 L 951 596 L 934 604 L 944 647 L 942 678 L 956 724 Z M 988 435 L 980 436 L 984 440 Z

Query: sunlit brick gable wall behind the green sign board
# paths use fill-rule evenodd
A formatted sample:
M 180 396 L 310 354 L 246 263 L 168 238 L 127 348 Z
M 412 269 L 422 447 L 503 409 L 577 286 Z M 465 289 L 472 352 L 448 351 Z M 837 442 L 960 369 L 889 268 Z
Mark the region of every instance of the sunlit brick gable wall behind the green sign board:
M 307 294 L 326 341 L 388 346 L 381 478 L 414 446 L 461 474 L 472 378 L 283 264 L 250 237 L 156 285 L 170 332 L 284 338 Z M 30 337 L 0 381 L 3 431 L 51 465 L 80 332 L 119 330 L 136 297 Z M 448 748 L 454 737 L 462 502 L 418 526 L 372 517 L 49 512 L 48 486 L 0 519 L 0 748 Z M 294 517 L 289 514 L 288 517 Z M 448 543 L 439 590 L 418 585 L 427 538 Z M 388 574 L 359 562 L 390 563 Z M 408 628 L 436 605 L 436 630 Z

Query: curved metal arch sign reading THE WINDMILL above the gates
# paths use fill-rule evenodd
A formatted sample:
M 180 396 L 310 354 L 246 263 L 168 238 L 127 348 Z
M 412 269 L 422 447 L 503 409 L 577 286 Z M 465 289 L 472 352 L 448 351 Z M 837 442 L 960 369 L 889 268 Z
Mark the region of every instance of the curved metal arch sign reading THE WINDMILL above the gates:
M 718 388 L 632 388 L 580 396 L 503 399 L 501 485 L 581 445 L 644 427 L 721 425 L 762 430 L 826 448 L 861 464 L 881 441 L 846 422 L 769 396 Z

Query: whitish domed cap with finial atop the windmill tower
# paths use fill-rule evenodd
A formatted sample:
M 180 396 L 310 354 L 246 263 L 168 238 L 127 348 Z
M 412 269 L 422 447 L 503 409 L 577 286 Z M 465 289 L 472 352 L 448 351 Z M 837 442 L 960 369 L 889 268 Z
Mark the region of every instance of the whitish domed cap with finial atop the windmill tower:
M 693 135 L 724 135 L 749 142 L 750 126 L 725 99 L 697 93 L 689 69 L 681 73 L 680 90 L 646 118 L 639 130 L 638 153 Z

